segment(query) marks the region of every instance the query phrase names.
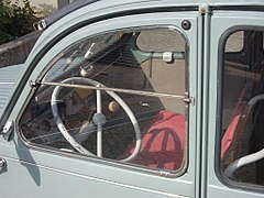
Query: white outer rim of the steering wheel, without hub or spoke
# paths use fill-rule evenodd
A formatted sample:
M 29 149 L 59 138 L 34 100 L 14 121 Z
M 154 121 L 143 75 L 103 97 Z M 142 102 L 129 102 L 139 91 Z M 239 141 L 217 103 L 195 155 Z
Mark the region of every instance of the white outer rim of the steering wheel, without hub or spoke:
M 84 78 L 84 77 L 70 77 L 67 78 L 65 80 L 63 80 L 62 82 L 87 82 L 88 85 L 94 85 L 94 86 L 100 86 L 100 87 L 106 87 L 105 85 L 89 79 L 89 78 Z M 58 107 L 57 107 L 57 97 L 59 91 L 62 90 L 62 86 L 56 86 L 55 89 L 53 90 L 52 94 L 52 100 L 51 100 L 51 106 L 52 106 L 52 112 L 53 112 L 53 117 L 55 119 L 55 122 L 57 124 L 58 130 L 61 131 L 61 133 L 64 135 L 64 138 L 68 141 L 68 143 L 74 146 L 79 153 L 85 154 L 85 155 L 92 155 L 92 156 L 97 156 L 94 153 L 89 152 L 88 150 L 86 150 L 82 145 L 80 145 L 78 142 L 75 141 L 75 139 L 68 133 L 67 129 L 65 128 L 63 120 L 59 117 L 58 113 Z M 141 148 L 141 130 L 140 130 L 140 125 L 139 122 L 136 121 L 133 112 L 131 111 L 131 109 L 128 107 L 128 105 L 123 101 L 123 99 L 121 99 L 116 92 L 113 91 L 106 91 L 109 96 L 111 96 L 116 101 L 118 101 L 118 103 L 123 108 L 123 110 L 127 112 L 128 117 L 130 118 L 130 121 L 133 124 L 134 131 L 135 131 L 135 138 L 136 138 L 136 142 L 135 142 L 135 148 L 132 152 L 132 154 L 123 160 L 120 160 L 120 162 L 129 162 L 131 160 L 133 160 L 140 152 Z

